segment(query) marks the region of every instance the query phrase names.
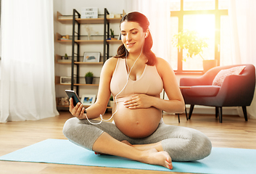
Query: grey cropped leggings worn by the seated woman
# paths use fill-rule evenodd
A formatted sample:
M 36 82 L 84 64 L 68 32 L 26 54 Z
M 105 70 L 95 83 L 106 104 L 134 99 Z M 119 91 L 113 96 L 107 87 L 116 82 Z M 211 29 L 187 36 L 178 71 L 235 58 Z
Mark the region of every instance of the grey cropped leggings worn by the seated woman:
M 90 120 L 99 123 L 97 120 Z M 160 122 L 157 130 L 146 138 L 125 136 L 113 123 L 102 122 L 91 125 L 88 120 L 73 117 L 64 125 L 64 135 L 74 144 L 92 150 L 97 138 L 106 132 L 118 141 L 127 140 L 131 144 L 154 144 L 161 141 L 162 149 L 170 154 L 173 161 L 194 161 L 207 157 L 212 149 L 210 139 L 205 134 L 191 128 L 166 125 Z

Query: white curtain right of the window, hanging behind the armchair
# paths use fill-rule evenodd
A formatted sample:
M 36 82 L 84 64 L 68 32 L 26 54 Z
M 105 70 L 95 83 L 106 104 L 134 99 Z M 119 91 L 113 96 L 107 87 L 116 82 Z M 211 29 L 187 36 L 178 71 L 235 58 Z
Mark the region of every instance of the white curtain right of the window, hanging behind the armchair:
M 256 67 L 256 1 L 231 0 L 228 14 L 231 17 L 232 63 Z M 247 113 L 249 117 L 256 118 L 256 92 Z M 243 115 L 241 108 L 239 115 Z

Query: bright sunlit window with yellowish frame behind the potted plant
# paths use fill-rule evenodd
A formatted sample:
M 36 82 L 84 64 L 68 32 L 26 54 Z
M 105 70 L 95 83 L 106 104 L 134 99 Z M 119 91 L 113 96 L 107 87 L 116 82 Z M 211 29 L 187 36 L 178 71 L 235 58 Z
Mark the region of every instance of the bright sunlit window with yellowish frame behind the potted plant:
M 230 37 L 228 35 L 228 0 L 173 0 L 170 6 L 171 36 L 181 30 L 196 30 L 207 37 L 208 47 L 203 49 L 202 57 L 217 59 L 218 65 L 230 57 Z M 202 58 L 197 55 L 186 57 L 186 50 L 171 46 L 170 64 L 176 73 L 202 72 Z M 224 59 L 225 57 L 225 59 Z

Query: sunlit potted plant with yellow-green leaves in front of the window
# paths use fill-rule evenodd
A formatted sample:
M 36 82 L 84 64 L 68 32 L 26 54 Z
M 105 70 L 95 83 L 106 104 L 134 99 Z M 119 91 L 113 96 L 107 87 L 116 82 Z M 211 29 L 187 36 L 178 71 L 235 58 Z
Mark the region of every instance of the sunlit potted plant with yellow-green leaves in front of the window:
M 207 48 L 208 44 L 206 42 L 207 38 L 202 38 L 198 36 L 198 33 L 194 30 L 182 30 L 178 34 L 173 36 L 173 44 L 178 49 L 186 49 L 188 53 L 186 54 L 186 57 L 194 57 L 199 54 L 199 56 L 203 60 L 203 67 L 204 71 L 210 70 L 212 67 L 217 66 L 217 60 L 216 59 L 205 59 L 202 57 L 201 53 L 204 48 Z M 183 59 L 186 61 L 186 59 Z

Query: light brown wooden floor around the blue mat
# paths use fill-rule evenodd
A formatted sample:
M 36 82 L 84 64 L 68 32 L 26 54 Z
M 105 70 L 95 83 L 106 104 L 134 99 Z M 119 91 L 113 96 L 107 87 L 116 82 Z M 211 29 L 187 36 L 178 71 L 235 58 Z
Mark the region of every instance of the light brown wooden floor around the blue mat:
M 59 112 L 59 116 L 38 121 L 0 123 L 0 156 L 14 152 L 47 138 L 65 139 L 62 127 L 71 117 L 69 112 Z M 105 118 L 110 115 L 104 116 Z M 223 116 L 223 123 L 218 123 L 215 115 L 192 115 L 187 121 L 181 115 L 178 123 L 176 115 L 164 115 L 164 121 L 171 125 L 195 128 L 205 133 L 215 147 L 231 147 L 243 149 L 256 149 L 256 120 L 238 116 Z M 3 162 L 0 161 L 0 173 L 166 173 L 151 170 L 133 170 L 108 167 L 88 167 L 78 165 L 57 165 L 32 162 Z

